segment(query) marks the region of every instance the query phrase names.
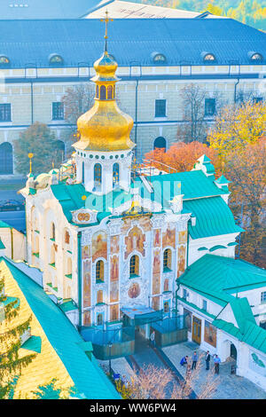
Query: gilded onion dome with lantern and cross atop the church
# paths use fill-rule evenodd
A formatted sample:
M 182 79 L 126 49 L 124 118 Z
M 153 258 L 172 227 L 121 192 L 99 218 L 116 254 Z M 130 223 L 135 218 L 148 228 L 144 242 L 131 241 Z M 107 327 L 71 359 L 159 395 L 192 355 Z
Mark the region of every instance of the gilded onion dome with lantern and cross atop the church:
M 77 121 L 80 139 L 74 147 L 83 151 L 120 151 L 134 146 L 129 138 L 133 119 L 121 112 L 115 101 L 115 84 L 119 79 L 115 75 L 117 63 L 107 51 L 107 13 L 105 21 L 105 51 L 94 63 L 96 75 L 91 79 L 96 84 L 94 106 Z

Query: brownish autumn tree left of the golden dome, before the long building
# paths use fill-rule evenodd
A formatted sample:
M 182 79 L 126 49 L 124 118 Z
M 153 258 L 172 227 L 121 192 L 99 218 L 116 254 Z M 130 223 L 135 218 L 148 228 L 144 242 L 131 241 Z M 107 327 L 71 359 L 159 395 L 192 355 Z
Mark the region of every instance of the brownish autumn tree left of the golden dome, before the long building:
M 32 171 L 34 174 L 49 172 L 52 163 L 55 166 L 62 161 L 62 150 L 54 133 L 46 124 L 35 122 L 32 126 L 20 133 L 15 142 L 16 169 L 21 174 L 29 172 L 28 153 L 33 153 Z

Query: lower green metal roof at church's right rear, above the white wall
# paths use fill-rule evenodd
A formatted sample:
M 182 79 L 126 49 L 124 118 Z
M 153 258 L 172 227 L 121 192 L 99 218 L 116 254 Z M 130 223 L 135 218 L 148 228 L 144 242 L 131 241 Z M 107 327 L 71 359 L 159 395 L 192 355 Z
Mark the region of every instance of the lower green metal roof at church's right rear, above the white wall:
M 231 209 L 222 197 L 184 201 L 183 208 L 196 216 L 196 225 L 189 225 L 192 239 L 243 232 L 243 229 L 235 224 Z

